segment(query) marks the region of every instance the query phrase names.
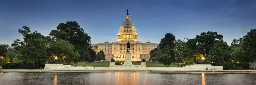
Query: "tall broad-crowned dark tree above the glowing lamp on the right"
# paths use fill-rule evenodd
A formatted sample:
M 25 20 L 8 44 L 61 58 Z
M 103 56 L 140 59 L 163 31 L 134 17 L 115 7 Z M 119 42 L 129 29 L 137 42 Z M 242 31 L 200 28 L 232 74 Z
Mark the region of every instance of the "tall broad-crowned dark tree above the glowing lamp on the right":
M 217 32 L 202 32 L 200 35 L 196 35 L 195 39 L 188 40 L 188 50 L 190 53 L 200 53 L 204 56 L 205 62 L 210 53 L 210 48 L 218 41 L 223 41 L 223 36 Z

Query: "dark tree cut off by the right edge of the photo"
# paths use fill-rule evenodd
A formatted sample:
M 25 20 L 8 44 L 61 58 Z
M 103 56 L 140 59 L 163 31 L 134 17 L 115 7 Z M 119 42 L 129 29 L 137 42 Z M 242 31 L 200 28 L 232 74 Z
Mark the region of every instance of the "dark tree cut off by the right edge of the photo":
M 255 62 L 256 60 L 256 29 L 252 29 L 243 36 L 243 49 L 245 56 L 248 56 L 247 62 Z

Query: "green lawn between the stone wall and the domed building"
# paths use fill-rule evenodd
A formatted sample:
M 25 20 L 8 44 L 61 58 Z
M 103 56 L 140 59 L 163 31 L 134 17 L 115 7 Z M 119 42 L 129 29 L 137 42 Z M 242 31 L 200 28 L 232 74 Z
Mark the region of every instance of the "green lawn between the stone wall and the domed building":
M 75 66 L 92 66 L 92 67 L 109 67 L 110 62 L 101 63 L 87 63 L 87 64 L 76 64 Z M 141 63 L 132 63 L 133 65 L 140 65 Z M 161 63 L 146 62 L 147 67 L 165 67 Z M 171 64 L 169 67 L 178 67 L 178 65 Z

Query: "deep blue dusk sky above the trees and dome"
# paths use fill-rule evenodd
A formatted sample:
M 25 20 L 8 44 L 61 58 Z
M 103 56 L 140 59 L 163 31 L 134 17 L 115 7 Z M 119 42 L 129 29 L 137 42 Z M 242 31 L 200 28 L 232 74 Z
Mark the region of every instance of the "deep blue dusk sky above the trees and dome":
M 115 42 L 127 9 L 140 42 L 160 43 L 165 33 L 191 39 L 212 31 L 230 45 L 256 28 L 256 0 L 1 0 L 0 43 L 22 40 L 22 26 L 48 36 L 66 21 L 76 21 L 91 43 Z

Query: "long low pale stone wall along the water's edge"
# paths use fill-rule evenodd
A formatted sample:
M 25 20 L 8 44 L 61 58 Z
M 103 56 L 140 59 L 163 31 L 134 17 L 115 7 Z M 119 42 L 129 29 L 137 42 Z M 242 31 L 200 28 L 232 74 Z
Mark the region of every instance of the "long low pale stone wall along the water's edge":
M 146 62 L 141 65 L 115 65 L 110 62 L 109 67 L 73 67 L 63 64 L 45 64 L 44 70 L 141 70 L 141 71 L 170 71 L 170 70 L 222 70 L 222 66 L 211 66 L 210 64 L 195 64 L 186 67 L 147 67 Z

